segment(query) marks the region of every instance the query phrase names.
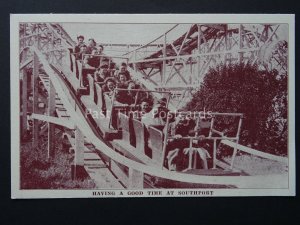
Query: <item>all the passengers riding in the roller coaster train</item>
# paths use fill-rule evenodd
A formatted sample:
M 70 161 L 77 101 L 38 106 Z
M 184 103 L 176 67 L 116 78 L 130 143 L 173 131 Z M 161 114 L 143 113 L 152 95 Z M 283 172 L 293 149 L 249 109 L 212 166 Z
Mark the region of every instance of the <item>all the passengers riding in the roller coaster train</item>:
M 182 137 L 193 136 L 198 132 L 199 127 L 196 126 L 195 120 L 186 116 L 175 117 L 168 109 L 168 99 L 165 97 L 154 102 L 151 92 L 143 91 L 141 86 L 132 80 L 127 64 L 123 62 L 117 67 L 111 58 L 103 53 L 104 47 L 97 44 L 93 38 L 88 40 L 87 45 L 84 36 L 78 36 L 77 40 L 73 53 L 82 63 L 83 85 L 89 86 L 87 76 L 91 75 L 101 86 L 106 106 L 109 102 L 114 106 L 132 107 L 131 112 L 134 113 L 131 118 L 141 121 L 146 130 L 150 126 L 162 131 L 167 129 L 168 133 L 175 138 L 169 141 L 166 147 L 164 166 L 181 170 L 186 164 L 185 149 L 192 147 L 190 141 Z M 166 127 L 167 121 L 168 127 Z M 147 135 L 145 137 L 146 144 L 149 146 Z

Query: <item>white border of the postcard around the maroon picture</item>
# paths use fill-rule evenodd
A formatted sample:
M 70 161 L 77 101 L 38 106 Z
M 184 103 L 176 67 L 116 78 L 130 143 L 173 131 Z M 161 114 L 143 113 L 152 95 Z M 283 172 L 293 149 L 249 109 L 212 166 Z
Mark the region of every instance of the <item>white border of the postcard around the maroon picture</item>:
M 19 104 L 19 30 L 20 22 L 84 22 L 84 23 L 287 23 L 289 24 L 289 188 L 288 189 L 163 189 L 151 195 L 148 189 L 106 190 L 20 190 L 20 104 Z M 14 14 L 11 15 L 10 80 L 11 80 L 11 196 L 12 198 L 92 198 L 92 197 L 215 197 L 215 196 L 294 196 L 295 168 L 295 16 L 288 14 Z M 178 191 L 211 191 L 212 195 L 179 195 Z M 130 192 L 142 191 L 142 195 Z M 174 191 L 176 195 L 167 195 Z M 99 193 L 96 193 L 99 192 Z

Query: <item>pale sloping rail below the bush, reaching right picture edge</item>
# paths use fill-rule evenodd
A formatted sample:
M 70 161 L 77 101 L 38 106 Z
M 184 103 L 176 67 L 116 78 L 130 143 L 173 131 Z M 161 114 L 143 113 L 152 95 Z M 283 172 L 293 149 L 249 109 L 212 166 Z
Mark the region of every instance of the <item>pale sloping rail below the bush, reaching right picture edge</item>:
M 287 157 L 281 157 L 281 156 L 277 156 L 277 155 L 272 155 L 269 153 L 265 153 L 265 152 L 261 152 L 252 148 L 249 148 L 247 146 L 243 146 L 240 144 L 236 144 L 232 141 L 228 141 L 228 140 L 222 140 L 221 141 L 222 144 L 228 145 L 232 148 L 237 147 L 238 150 L 242 151 L 242 152 L 246 152 L 249 153 L 251 155 L 256 155 L 262 158 L 266 158 L 266 159 L 270 159 L 270 160 L 274 160 L 274 161 L 278 161 L 278 162 L 282 162 L 285 164 L 288 164 L 288 158 Z

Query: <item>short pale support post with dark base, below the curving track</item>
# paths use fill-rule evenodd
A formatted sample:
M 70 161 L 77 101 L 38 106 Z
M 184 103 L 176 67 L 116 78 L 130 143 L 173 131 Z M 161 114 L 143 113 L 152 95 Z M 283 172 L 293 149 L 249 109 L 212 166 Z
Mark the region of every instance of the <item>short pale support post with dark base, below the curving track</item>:
M 75 158 L 72 166 L 72 179 L 84 179 L 87 172 L 84 169 L 84 136 L 82 132 L 75 128 Z

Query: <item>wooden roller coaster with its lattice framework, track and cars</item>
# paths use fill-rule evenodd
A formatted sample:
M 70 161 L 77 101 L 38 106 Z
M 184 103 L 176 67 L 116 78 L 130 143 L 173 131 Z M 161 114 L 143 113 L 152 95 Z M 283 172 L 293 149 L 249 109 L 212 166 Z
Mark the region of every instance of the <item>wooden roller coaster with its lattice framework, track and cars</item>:
M 153 42 L 122 56 L 105 56 L 109 65 L 115 59 L 128 63 L 132 77 L 141 83 L 140 89 L 132 91 L 149 92 L 155 99 L 165 97 L 169 109 L 182 107 L 190 96 L 188 93 L 199 86 L 209 66 L 220 61 L 261 62 L 261 66 L 270 69 L 270 65 L 274 65 L 270 60 L 277 60 L 277 67 L 286 72 L 286 62 L 278 60 L 280 53 L 272 55 L 269 61 L 261 57 L 270 42 L 278 41 L 276 31 L 280 25 L 259 25 L 254 29 L 242 24 L 235 28 L 229 28 L 226 24 L 193 24 L 181 37 L 167 42 L 168 35 L 178 26 L 180 24 Z M 75 42 L 58 23 L 20 24 L 21 134 L 28 131 L 28 115 L 31 115 L 32 146 L 37 148 L 42 122 L 43 126 L 46 122 L 50 159 L 55 154 L 55 127 L 62 127 L 64 137 L 75 152 L 74 177 L 86 173 L 98 180 L 99 188 L 108 188 L 103 184 L 105 176 L 111 181 L 110 188 L 115 189 L 203 185 L 267 188 L 287 185 L 286 176 L 280 174 L 247 176 L 234 168 L 238 151 L 288 164 L 285 157 L 263 153 L 238 143 L 243 120 L 240 113 L 212 112 L 211 118 L 204 122 L 198 115 L 195 120 L 197 126 L 204 126 L 209 132 L 206 135 L 196 132 L 183 137 L 189 143 L 186 148 L 187 167 L 181 171 L 167 169 L 167 144 L 176 139 L 168 129 L 172 121 L 167 118 L 165 129 L 145 127 L 140 120 L 128 114 L 136 102 L 134 106 L 117 104 L 115 95 L 124 90 L 115 89 L 112 98 L 106 100 L 102 84 L 95 82 L 90 75 L 85 85 L 85 68 L 72 52 L 74 45 Z M 178 85 L 172 83 L 175 75 L 180 79 L 176 82 Z M 41 98 L 43 94 L 45 101 Z M 175 118 L 179 114 L 175 112 Z M 215 120 L 220 117 L 235 118 L 234 135 L 226 136 L 214 127 Z M 194 143 L 204 140 L 212 146 L 211 159 L 208 159 L 208 152 L 205 155 L 203 148 L 193 147 Z M 147 145 L 150 146 L 150 154 L 145 147 Z M 217 158 L 221 145 L 233 149 L 231 164 Z M 97 165 L 91 163 L 95 161 Z M 281 183 L 276 183 L 278 180 Z

